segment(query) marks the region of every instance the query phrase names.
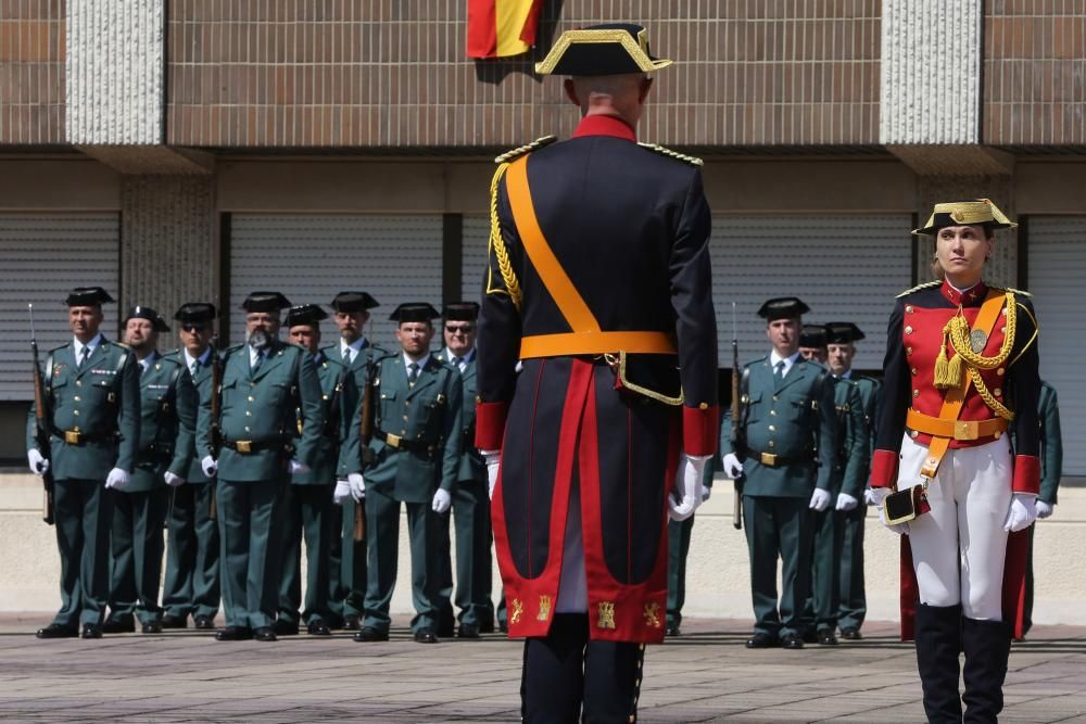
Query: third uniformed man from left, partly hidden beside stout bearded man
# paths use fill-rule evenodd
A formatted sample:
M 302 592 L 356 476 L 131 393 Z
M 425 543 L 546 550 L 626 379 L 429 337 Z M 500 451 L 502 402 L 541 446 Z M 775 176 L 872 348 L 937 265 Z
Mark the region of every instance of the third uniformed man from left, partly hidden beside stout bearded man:
M 192 380 L 199 399 L 211 395 L 218 355 L 211 342 L 215 305 L 182 304 L 174 313 L 180 350 L 174 355 Z M 200 456 L 189 454 L 185 484 L 174 488 L 166 520 L 166 580 L 162 586 L 163 628 L 215 627 L 219 605 L 218 523 L 213 518 L 215 479 L 204 474 Z

